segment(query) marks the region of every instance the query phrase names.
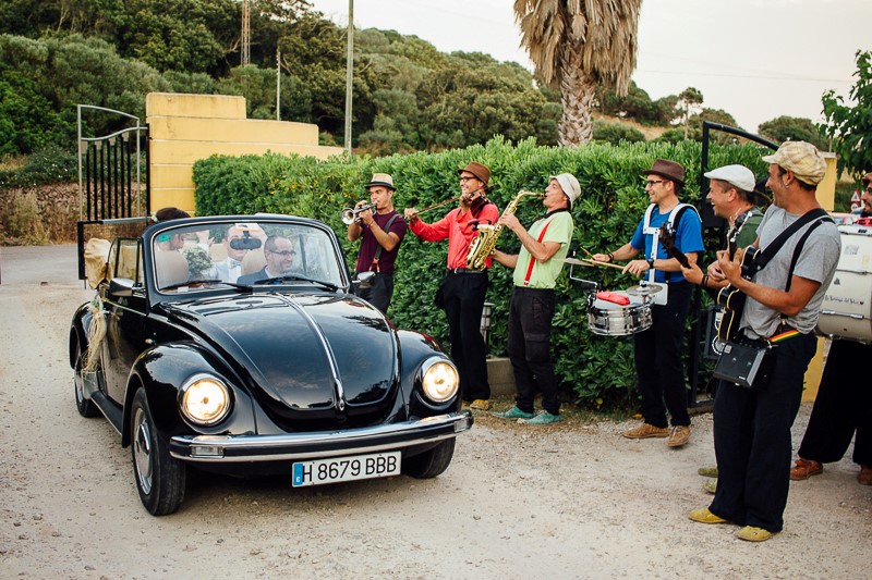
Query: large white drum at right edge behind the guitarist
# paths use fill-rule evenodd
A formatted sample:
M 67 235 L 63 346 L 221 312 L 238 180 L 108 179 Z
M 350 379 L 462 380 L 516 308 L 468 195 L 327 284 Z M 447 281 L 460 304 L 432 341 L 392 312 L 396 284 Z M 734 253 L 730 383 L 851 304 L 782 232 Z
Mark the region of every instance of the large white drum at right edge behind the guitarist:
M 824 295 L 818 332 L 872 342 L 872 227 L 840 225 L 841 255 Z

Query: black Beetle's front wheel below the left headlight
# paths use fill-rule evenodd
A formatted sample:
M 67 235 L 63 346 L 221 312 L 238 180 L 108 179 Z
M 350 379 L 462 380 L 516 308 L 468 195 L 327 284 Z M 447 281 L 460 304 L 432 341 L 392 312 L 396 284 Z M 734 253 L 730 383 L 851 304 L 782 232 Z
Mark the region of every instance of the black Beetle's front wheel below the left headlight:
M 172 514 L 184 499 L 185 466 L 170 456 L 158 435 L 142 387 L 133 397 L 131 417 L 131 456 L 140 499 L 153 516 Z

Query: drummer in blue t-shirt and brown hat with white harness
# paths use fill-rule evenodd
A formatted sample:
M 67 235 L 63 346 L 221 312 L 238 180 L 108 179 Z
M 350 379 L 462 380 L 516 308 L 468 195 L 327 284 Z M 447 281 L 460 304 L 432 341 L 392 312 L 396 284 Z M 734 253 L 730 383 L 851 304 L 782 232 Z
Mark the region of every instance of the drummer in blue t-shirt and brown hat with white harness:
M 661 225 L 675 232 L 673 245 L 695 263 L 703 250 L 702 221 L 695 208 L 678 199 L 685 185 L 685 169 L 675 161 L 657 159 L 650 170 L 645 192 L 651 206 L 632 239 L 615 251 L 596 254 L 594 260 L 630 260 L 625 273 L 645 276 L 663 287 L 653 295 L 652 324 L 633 335 L 635 374 L 642 394 L 644 423 L 623 433 L 629 439 L 668 437 L 680 447 L 690 440 L 690 415 L 685 387 L 682 344 L 692 285 L 681 274 L 681 264 L 669 256 L 661 240 Z M 642 252 L 643 258 L 631 259 Z M 665 404 L 664 404 L 665 400 Z M 671 416 L 671 430 L 666 411 Z

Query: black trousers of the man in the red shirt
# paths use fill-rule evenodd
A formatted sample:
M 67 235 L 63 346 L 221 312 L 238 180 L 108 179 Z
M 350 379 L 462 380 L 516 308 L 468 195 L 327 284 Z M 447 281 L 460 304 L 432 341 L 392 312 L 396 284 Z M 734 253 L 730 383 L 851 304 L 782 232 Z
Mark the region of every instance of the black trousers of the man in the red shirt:
M 463 400 L 491 398 L 487 383 L 487 347 L 482 337 L 482 310 L 487 293 L 487 272 L 449 272 L 441 285 L 441 300 L 448 318 L 451 359 L 460 372 Z

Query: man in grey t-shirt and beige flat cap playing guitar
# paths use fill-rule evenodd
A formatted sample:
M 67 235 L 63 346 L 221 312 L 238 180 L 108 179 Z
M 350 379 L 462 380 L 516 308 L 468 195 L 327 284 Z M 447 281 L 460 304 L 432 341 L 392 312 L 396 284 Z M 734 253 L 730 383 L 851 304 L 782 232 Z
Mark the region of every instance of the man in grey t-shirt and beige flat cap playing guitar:
M 815 186 L 826 164 L 821 152 L 803 141 L 787 141 L 763 160 L 770 163 L 766 185 L 774 196 L 758 229 L 756 246 L 765 250 L 803 214 L 821 210 Z M 770 344 L 772 368 L 753 388 L 718 383 L 714 407 L 717 491 L 712 504 L 691 511 L 690 519 L 743 526 L 737 533 L 741 540 L 762 542 L 784 527 L 790 428 L 802 398 L 806 369 L 818 348 L 813 333 L 818 313 L 840 252 L 838 230 L 823 215 L 794 233 L 753 280 L 741 275 L 742 251 L 735 259 L 718 252 L 724 275 L 747 296 L 739 323 L 741 340 Z M 789 274 L 797 244 L 810 229 Z

